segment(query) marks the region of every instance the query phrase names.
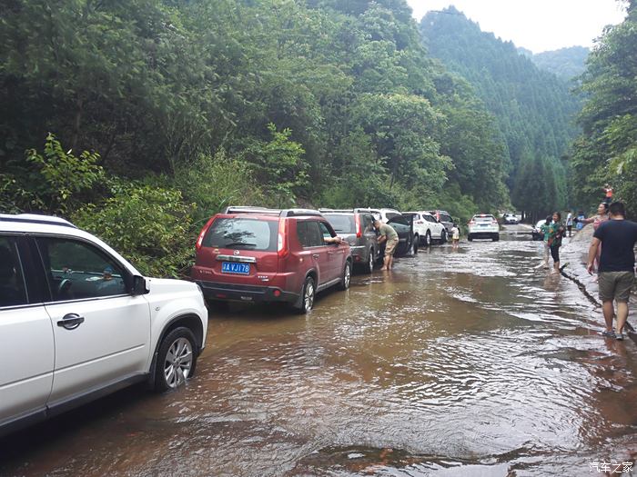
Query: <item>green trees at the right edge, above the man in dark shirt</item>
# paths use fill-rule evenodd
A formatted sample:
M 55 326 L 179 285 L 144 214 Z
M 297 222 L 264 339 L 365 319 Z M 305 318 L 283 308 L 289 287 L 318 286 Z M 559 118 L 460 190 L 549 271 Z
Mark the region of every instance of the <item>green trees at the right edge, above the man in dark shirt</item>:
M 637 214 L 637 2 L 608 28 L 592 50 L 581 89 L 587 100 L 578 117 L 582 133 L 571 156 L 572 194 L 593 207 L 610 184 L 615 198 Z

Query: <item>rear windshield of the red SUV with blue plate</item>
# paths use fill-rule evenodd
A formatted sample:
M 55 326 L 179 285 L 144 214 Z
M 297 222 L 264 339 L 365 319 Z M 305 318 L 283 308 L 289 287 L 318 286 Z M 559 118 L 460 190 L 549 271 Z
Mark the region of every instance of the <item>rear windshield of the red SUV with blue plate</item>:
M 215 220 L 201 244 L 204 247 L 274 252 L 277 243 L 278 221 L 236 217 Z

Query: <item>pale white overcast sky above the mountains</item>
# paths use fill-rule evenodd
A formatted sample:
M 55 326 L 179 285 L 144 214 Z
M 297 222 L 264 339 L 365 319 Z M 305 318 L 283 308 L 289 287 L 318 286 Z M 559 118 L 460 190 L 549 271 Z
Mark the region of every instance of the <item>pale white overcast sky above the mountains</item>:
M 429 10 L 454 5 L 502 40 L 533 53 L 591 47 L 605 25 L 622 23 L 616 0 L 407 0 L 418 22 Z

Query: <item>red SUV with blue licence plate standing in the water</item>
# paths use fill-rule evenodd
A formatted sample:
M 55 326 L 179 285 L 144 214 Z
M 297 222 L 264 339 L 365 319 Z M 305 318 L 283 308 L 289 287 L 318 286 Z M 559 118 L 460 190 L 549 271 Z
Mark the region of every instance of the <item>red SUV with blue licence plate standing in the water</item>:
M 191 276 L 210 300 L 286 302 L 307 313 L 317 292 L 349 288 L 349 244 L 311 210 L 228 207 L 197 238 Z

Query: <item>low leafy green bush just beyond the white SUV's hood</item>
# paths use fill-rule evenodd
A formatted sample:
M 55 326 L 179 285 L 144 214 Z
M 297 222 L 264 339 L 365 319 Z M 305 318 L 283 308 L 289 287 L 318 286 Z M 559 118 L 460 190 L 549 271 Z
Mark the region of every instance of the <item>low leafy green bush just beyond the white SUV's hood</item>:
M 147 184 L 114 187 L 113 197 L 88 204 L 72 220 L 96 234 L 145 275 L 179 277 L 194 257 L 193 204 L 181 192 Z

